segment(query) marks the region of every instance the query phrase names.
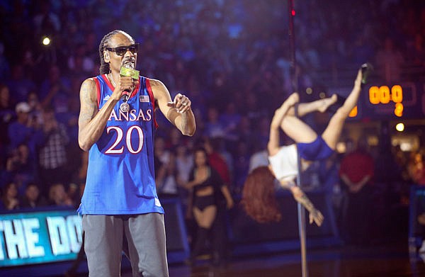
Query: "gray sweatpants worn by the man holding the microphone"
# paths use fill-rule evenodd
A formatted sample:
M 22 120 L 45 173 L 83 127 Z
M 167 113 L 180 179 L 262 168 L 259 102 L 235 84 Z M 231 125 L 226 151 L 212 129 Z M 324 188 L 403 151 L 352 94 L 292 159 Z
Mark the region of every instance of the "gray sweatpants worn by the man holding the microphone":
M 122 251 L 132 276 L 168 277 L 164 215 L 83 215 L 89 276 L 120 276 Z

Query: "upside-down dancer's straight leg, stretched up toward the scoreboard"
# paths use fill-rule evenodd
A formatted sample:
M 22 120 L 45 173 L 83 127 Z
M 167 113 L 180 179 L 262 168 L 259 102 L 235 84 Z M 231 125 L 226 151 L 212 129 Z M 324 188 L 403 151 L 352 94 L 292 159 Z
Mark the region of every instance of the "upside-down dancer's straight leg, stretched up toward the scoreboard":
M 362 73 L 361 69 L 358 70 L 356 81 L 354 81 L 354 87 L 351 91 L 350 95 L 346 98 L 344 105 L 332 115 L 331 120 L 329 120 L 329 124 L 327 128 L 324 130 L 322 134 L 323 140 L 331 147 L 331 149 L 335 149 L 336 142 L 339 140 L 339 135 L 341 135 L 342 128 L 344 127 L 344 122 L 351 110 L 357 105 L 358 96 L 361 93 L 361 78 Z

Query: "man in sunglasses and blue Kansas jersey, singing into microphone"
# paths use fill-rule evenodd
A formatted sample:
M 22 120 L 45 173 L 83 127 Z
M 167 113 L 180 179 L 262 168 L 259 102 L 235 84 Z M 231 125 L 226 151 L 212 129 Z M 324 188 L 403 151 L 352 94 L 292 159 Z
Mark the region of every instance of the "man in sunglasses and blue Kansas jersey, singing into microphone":
M 196 125 L 186 96 L 171 100 L 161 81 L 120 75 L 121 67 L 135 68 L 137 50 L 122 30 L 108 33 L 99 45 L 100 75 L 81 84 L 79 146 L 89 151 L 89 168 L 79 213 L 89 276 L 120 276 L 123 249 L 133 276 L 169 276 L 154 181 L 154 109 L 183 135 L 193 135 Z

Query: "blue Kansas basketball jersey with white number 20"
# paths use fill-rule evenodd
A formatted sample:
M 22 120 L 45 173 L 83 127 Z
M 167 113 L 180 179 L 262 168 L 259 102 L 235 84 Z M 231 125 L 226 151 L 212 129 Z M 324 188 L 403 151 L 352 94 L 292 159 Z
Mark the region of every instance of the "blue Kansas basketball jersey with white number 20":
M 94 77 L 98 108 L 108 101 L 113 85 L 106 75 Z M 86 188 L 78 209 L 83 215 L 164 213 L 154 175 L 154 96 L 149 79 L 128 98 L 130 111 L 115 105 L 103 134 L 89 150 Z

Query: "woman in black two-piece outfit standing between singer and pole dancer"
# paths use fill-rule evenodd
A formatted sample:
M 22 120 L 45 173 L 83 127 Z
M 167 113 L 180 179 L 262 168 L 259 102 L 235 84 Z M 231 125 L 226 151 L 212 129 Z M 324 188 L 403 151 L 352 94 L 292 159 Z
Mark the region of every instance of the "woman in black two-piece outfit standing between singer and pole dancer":
M 217 216 L 217 205 L 224 196 L 227 208 L 232 208 L 233 200 L 229 189 L 220 178 L 220 175 L 208 164 L 207 152 L 198 148 L 194 152 L 195 164 L 191 171 L 186 188 L 193 191 L 192 212 L 198 224 L 196 242 L 194 244 L 191 262 L 203 249 L 208 233 Z

